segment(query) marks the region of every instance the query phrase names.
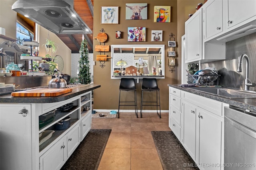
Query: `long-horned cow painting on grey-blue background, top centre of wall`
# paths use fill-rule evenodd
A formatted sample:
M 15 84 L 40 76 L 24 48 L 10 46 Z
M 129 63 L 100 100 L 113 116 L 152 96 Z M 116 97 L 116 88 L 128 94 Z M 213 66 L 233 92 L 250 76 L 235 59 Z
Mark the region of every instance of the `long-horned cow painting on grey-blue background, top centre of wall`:
M 147 20 L 148 4 L 134 3 L 126 4 L 125 19 L 126 20 Z

